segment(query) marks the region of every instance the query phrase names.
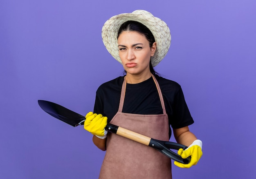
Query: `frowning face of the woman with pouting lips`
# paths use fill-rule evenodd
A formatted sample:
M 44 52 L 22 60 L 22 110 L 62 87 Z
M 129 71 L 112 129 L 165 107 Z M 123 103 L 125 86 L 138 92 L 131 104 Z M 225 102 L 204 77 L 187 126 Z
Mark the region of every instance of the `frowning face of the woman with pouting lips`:
M 150 47 L 144 35 L 135 31 L 124 31 L 118 37 L 118 48 L 127 75 L 150 73 L 149 63 L 156 50 L 155 42 Z

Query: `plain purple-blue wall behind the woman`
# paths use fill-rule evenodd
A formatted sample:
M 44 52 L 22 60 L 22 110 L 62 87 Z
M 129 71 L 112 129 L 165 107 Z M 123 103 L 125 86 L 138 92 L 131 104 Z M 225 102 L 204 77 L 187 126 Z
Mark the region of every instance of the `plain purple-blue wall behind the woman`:
M 170 27 L 171 48 L 156 71 L 181 84 L 190 129 L 204 144 L 198 165 L 173 166 L 173 178 L 256 178 L 255 0 L 1 0 L 1 179 L 97 178 L 105 152 L 92 135 L 37 100 L 93 110 L 98 86 L 122 75 L 101 27 L 136 9 Z

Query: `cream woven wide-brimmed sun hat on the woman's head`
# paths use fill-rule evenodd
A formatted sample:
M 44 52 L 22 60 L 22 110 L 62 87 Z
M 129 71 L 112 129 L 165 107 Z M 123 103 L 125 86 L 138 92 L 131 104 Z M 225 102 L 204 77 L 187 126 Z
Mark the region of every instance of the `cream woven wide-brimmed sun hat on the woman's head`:
M 102 27 L 102 40 L 108 52 L 122 64 L 119 57 L 117 33 L 121 25 L 129 20 L 140 22 L 144 24 L 153 33 L 155 42 L 157 43 L 157 49 L 155 55 L 151 57 L 152 66 L 156 66 L 169 50 L 171 44 L 170 29 L 167 24 L 154 17 L 151 13 L 144 10 L 136 10 L 132 13 L 123 13 L 115 15 L 105 22 Z

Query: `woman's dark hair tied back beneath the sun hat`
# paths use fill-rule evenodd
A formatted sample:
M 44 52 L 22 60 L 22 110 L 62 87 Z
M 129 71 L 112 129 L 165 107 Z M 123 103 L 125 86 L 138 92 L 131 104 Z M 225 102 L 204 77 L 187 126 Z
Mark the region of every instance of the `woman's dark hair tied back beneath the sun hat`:
M 155 42 L 153 33 L 144 24 L 141 24 L 140 22 L 132 21 L 132 20 L 124 22 L 124 24 L 122 24 L 121 27 L 119 28 L 119 31 L 117 33 L 117 38 L 124 31 L 135 31 L 144 35 L 148 40 L 150 47 L 152 47 L 153 43 Z M 150 72 L 153 73 L 154 75 L 158 74 L 155 72 L 151 62 L 149 64 L 149 69 L 150 69 Z

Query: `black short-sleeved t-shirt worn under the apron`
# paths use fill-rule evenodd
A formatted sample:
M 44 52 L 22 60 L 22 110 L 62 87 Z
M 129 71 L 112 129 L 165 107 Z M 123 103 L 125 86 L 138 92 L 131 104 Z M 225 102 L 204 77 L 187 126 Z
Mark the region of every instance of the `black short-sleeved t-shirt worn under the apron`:
M 193 119 L 186 105 L 181 86 L 174 81 L 155 75 L 159 83 L 169 124 L 172 128 L 182 128 L 193 124 Z M 103 83 L 96 92 L 94 113 L 108 117 L 108 122 L 119 108 L 121 88 L 124 76 Z M 153 77 L 138 84 L 126 84 L 123 113 L 163 114 L 160 98 Z M 171 136 L 171 128 L 169 129 Z

